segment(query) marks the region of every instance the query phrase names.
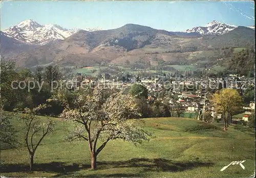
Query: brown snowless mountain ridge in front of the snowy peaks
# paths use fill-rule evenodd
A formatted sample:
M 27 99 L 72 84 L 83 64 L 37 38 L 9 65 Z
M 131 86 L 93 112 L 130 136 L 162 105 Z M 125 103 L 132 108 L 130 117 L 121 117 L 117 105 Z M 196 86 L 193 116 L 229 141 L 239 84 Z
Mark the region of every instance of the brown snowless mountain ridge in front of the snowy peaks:
M 12 59 L 20 67 L 50 63 L 78 67 L 109 64 L 136 67 L 190 65 L 200 61 L 217 61 L 221 58 L 222 48 L 254 46 L 254 32 L 251 28 L 237 27 L 224 34 L 190 35 L 192 33 L 126 24 L 111 30 L 80 30 L 63 40 L 14 53 Z

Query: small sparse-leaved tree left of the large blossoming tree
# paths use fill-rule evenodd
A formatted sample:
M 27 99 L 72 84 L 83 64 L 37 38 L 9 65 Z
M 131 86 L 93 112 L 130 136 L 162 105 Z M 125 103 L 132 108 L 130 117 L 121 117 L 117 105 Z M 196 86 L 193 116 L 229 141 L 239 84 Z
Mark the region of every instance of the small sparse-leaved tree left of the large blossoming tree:
M 54 123 L 49 117 L 47 118 L 47 122 L 42 122 L 42 119 L 36 115 L 38 110 L 45 107 L 45 105 L 39 105 L 34 109 L 25 108 L 24 114 L 18 115 L 19 120 L 25 123 L 25 144 L 30 157 L 30 171 L 32 171 L 34 167 L 34 155 L 37 147 L 45 136 L 52 133 L 54 130 Z M 35 141 L 34 136 L 39 137 L 39 140 Z

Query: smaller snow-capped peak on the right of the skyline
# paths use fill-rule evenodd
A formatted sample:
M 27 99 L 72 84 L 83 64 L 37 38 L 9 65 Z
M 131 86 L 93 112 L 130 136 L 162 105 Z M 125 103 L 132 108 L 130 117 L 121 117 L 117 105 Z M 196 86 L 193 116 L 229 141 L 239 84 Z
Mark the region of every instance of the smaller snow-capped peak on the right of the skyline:
M 201 35 L 206 34 L 224 34 L 233 29 L 237 28 L 236 26 L 232 26 L 226 23 L 221 23 L 217 20 L 213 20 L 207 23 L 204 27 L 194 27 L 192 29 L 188 29 L 185 32 L 187 33 L 200 33 Z

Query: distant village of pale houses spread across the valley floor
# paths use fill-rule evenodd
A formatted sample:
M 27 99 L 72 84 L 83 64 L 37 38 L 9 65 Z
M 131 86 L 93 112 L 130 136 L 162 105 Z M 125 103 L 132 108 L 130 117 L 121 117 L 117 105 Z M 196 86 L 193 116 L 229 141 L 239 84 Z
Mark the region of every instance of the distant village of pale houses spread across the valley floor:
M 236 73 L 230 73 L 225 78 L 186 78 L 181 74 L 176 74 L 172 77 L 164 77 L 162 75 L 156 75 L 155 77 L 128 77 L 125 80 L 110 75 L 109 73 L 103 73 L 101 78 L 83 76 L 78 74 L 72 79 L 72 81 L 78 81 L 78 83 L 98 83 L 105 87 L 114 87 L 119 89 L 125 89 L 133 86 L 133 84 L 141 84 L 148 90 L 147 103 L 154 103 L 158 100 L 162 103 L 168 103 L 169 107 L 173 107 L 179 103 L 182 105 L 182 109 L 186 113 L 210 112 L 212 120 L 221 120 L 221 114 L 215 111 L 215 108 L 210 103 L 209 94 L 214 93 L 218 89 L 233 88 L 239 91 L 242 96 L 248 87 L 255 85 L 255 79 L 239 77 Z M 79 89 L 79 86 L 74 88 Z M 233 118 L 233 121 L 244 120 L 248 121 L 249 115 L 252 114 L 251 110 L 254 110 L 254 101 L 250 101 L 249 105 L 243 107 L 246 110 L 243 116 L 239 118 Z M 199 119 L 199 118 L 198 118 Z

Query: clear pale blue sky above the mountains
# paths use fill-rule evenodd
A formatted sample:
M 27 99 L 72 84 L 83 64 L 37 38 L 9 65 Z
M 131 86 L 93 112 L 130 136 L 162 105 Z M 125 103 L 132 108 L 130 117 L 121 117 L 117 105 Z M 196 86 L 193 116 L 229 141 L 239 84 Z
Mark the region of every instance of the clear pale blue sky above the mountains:
M 184 31 L 218 20 L 254 25 L 253 1 L 2 1 L 1 30 L 20 21 L 62 27 L 114 29 L 126 23 L 167 31 Z

